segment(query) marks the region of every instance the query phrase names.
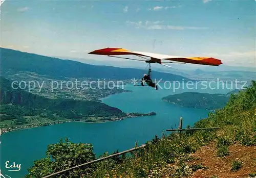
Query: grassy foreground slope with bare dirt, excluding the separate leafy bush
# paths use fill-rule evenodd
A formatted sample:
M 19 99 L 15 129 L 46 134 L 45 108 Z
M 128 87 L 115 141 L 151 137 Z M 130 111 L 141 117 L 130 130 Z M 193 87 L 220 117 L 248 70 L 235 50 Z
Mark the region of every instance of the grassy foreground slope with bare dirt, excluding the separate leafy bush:
M 209 114 L 208 118 L 195 124 L 197 128 L 211 126 L 221 126 L 221 129 L 186 132 L 182 139 L 177 134 L 153 139 L 145 149 L 138 152 L 137 160 L 134 157 L 106 160 L 96 164 L 94 173 L 86 177 L 254 176 L 256 82 L 252 81 L 252 85 L 245 91 L 232 94 L 223 109 Z M 208 158 L 205 157 L 207 152 Z M 219 163 L 223 171 L 218 171 L 218 165 L 214 165 Z M 241 174 L 239 170 L 243 170 Z

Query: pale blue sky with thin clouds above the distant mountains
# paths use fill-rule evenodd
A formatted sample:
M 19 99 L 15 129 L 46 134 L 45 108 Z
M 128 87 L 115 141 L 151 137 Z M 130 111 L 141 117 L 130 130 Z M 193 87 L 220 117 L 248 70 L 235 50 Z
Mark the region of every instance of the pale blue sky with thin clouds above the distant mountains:
M 121 66 L 137 63 L 88 53 L 122 47 L 256 67 L 255 5 L 254 0 L 5 0 L 1 46 Z

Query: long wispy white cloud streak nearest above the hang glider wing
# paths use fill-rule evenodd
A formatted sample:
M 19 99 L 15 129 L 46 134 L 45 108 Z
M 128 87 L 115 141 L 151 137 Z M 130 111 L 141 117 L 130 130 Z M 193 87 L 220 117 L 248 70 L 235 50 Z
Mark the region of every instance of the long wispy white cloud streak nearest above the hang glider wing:
M 126 21 L 127 24 L 134 26 L 136 29 L 146 29 L 146 30 L 206 30 L 205 27 L 183 27 L 183 26 L 170 26 L 168 24 L 163 24 L 164 21 Z

